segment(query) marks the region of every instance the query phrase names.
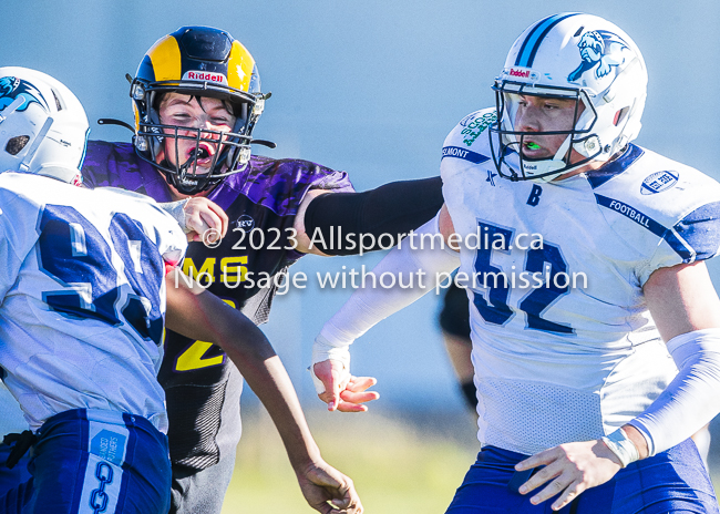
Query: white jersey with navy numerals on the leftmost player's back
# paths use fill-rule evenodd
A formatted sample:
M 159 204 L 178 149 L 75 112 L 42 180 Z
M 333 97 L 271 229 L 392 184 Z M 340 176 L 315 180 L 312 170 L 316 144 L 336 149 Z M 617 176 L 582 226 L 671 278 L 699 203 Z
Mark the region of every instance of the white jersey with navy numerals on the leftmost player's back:
M 186 246 L 151 198 L 0 174 L 0 366 L 32 430 L 90 408 L 166 431 L 165 263 Z

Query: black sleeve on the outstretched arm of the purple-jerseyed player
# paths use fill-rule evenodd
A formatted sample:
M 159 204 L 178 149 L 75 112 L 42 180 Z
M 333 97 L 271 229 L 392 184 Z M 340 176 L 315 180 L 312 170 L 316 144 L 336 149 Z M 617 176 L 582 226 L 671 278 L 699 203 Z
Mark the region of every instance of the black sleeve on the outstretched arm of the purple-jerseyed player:
M 320 195 L 305 213 L 305 233 L 328 255 L 357 255 L 361 246 L 363 253 L 389 248 L 432 219 L 442 204 L 440 177 Z

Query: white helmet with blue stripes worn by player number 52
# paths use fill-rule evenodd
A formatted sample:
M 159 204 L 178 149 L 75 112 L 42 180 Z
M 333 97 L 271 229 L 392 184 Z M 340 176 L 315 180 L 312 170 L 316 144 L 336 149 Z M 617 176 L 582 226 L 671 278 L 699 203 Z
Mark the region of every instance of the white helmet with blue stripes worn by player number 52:
M 493 86 L 497 122 L 490 141 L 497 172 L 512 181 L 546 182 L 590 161 L 608 161 L 640 132 L 647 83 L 640 50 L 609 21 L 566 12 L 532 24 Z M 569 99 L 582 110 L 572 130 L 533 133 L 567 135 L 553 158 L 523 156 L 529 133 L 514 127 L 520 95 Z M 583 158 L 570 163 L 572 150 Z

